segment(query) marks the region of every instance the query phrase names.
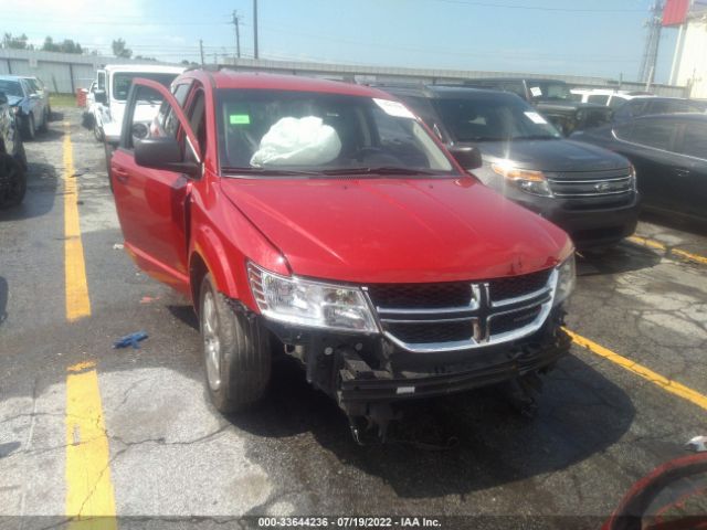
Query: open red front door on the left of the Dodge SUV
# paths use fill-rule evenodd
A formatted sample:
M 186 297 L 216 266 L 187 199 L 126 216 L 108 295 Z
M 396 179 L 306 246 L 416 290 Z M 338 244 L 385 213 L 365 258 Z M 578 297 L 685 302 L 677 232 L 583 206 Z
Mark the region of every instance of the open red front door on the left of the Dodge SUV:
M 189 89 L 189 85 L 176 85 L 181 103 Z M 146 168 L 135 161 L 138 135 L 151 134 L 149 124 L 145 126 L 135 119 L 136 109 L 157 98 L 170 107 L 168 113 L 176 124 L 168 134 L 180 140 L 182 157 L 201 162 L 199 142 L 180 100 L 159 83 L 135 80 L 127 99 L 120 144 L 110 161 L 110 178 L 125 248 L 148 274 L 188 293 L 187 209 L 192 181 L 184 173 Z

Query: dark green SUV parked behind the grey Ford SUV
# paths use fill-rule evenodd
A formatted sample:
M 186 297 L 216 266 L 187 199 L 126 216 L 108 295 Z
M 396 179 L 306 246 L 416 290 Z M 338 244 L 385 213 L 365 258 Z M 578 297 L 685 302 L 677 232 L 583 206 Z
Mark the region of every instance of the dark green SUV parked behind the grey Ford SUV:
M 612 110 L 609 107 L 576 102 L 569 85 L 562 81 L 498 77 L 471 80 L 464 84 L 517 94 L 537 108 L 564 136 L 569 136 L 576 130 L 599 127 L 610 123 L 612 117 Z

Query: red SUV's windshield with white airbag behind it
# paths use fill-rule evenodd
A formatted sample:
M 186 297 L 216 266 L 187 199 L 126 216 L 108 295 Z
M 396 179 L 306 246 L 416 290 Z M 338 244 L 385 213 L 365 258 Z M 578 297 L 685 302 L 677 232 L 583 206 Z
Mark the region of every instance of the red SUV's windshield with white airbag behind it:
M 224 171 L 456 174 L 446 155 L 400 103 L 288 91 L 221 89 Z

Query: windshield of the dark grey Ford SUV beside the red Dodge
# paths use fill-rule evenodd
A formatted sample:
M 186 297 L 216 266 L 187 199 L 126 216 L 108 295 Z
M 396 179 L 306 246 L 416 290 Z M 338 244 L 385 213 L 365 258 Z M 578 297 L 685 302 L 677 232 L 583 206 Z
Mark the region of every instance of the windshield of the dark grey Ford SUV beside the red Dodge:
M 553 139 L 560 132 L 531 106 L 517 97 L 435 99 L 455 141 Z

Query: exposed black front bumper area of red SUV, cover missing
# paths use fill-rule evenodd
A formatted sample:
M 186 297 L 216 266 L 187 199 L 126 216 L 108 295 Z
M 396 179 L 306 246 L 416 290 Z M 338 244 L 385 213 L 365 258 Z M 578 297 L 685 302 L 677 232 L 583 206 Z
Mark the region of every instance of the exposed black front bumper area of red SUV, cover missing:
M 403 351 L 377 335 L 313 330 L 253 318 L 261 319 L 285 344 L 286 354 L 300 361 L 310 384 L 336 400 L 361 443 L 362 423 L 376 425 L 384 441 L 389 422 L 398 417 L 392 407 L 399 402 L 537 379 L 569 351 L 570 338 L 561 329 L 563 316 L 561 306 L 555 308 L 537 332 L 513 342 L 430 353 Z M 517 386 L 525 392 L 527 385 Z

